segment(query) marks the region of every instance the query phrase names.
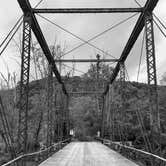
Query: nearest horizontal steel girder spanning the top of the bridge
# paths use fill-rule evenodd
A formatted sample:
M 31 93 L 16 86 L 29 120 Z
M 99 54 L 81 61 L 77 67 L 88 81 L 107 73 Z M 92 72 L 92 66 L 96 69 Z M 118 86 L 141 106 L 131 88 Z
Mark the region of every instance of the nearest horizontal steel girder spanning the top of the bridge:
M 34 13 L 132 13 L 142 12 L 143 8 L 64 8 L 64 9 L 33 9 Z

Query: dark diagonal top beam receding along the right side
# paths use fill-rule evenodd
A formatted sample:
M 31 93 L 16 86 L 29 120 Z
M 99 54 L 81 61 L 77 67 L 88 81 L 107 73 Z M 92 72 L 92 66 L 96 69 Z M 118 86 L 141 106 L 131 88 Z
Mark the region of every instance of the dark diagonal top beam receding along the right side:
M 106 94 L 109 90 L 109 84 L 112 84 L 113 81 L 115 80 L 115 78 L 117 77 L 119 70 L 120 70 L 120 64 L 125 62 L 131 49 L 133 48 L 135 42 L 137 41 L 142 29 L 144 28 L 144 20 L 145 20 L 145 16 L 146 13 L 152 13 L 152 11 L 154 10 L 155 6 L 157 5 L 159 0 L 147 0 L 143 12 L 141 13 L 141 15 L 138 18 L 138 21 L 130 35 L 130 38 L 121 54 L 121 57 L 119 59 L 118 64 L 116 65 L 115 69 L 113 70 L 113 74 L 111 75 L 111 78 L 109 80 L 109 83 L 105 89 L 104 94 Z

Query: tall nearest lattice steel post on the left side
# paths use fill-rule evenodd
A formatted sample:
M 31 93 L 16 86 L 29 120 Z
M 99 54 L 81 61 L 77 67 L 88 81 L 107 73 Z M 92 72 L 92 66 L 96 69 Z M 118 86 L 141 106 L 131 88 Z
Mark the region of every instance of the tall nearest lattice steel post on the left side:
M 26 153 L 27 147 L 27 116 L 28 116 L 28 91 L 29 91 L 29 69 L 30 69 L 30 46 L 31 46 L 31 16 L 24 15 L 23 39 L 21 55 L 21 82 L 19 100 L 19 126 L 18 144 L 19 152 Z

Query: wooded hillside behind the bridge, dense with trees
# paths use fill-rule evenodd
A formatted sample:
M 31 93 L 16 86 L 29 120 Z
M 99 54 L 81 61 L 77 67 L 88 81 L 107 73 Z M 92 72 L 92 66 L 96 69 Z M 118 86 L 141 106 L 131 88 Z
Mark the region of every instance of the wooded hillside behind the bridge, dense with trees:
M 56 79 L 54 78 L 56 87 Z M 95 79 L 91 77 L 71 77 L 64 78 L 64 82 L 69 91 L 96 91 Z M 100 81 L 101 88 L 104 86 L 106 80 Z M 116 122 L 114 124 L 114 140 L 119 141 L 118 128 L 116 124 L 123 124 L 123 132 L 127 140 L 133 142 L 138 148 L 142 148 L 143 138 L 141 134 L 141 126 L 139 116 L 141 116 L 143 124 L 146 129 L 146 133 L 150 130 L 149 121 L 149 109 L 148 109 L 148 86 L 146 84 L 136 82 L 126 82 L 125 86 L 125 117 L 121 119 L 117 111 L 117 107 L 114 110 L 114 118 Z M 0 92 L 2 96 L 3 104 L 5 107 L 5 114 L 9 122 L 10 131 L 14 141 L 17 138 L 17 124 L 18 124 L 18 107 L 19 102 L 17 98 L 17 89 L 3 90 Z M 114 106 L 118 106 L 120 103 L 119 95 L 119 83 L 114 83 Z M 159 109 L 161 118 L 162 129 L 162 145 L 166 146 L 165 132 L 166 132 L 166 87 L 158 86 L 159 93 Z M 38 148 L 39 142 L 46 143 L 47 133 L 47 109 L 46 109 L 46 79 L 33 81 L 30 83 L 29 92 L 29 114 L 28 114 L 28 142 L 30 149 Z M 101 110 L 98 109 L 97 98 L 95 95 L 85 95 L 70 98 L 70 126 L 76 132 L 76 137 L 80 140 L 86 136 L 92 137 L 97 134 L 97 131 L 101 130 Z M 56 108 L 55 108 L 56 111 Z M 110 110 L 108 110 L 109 112 Z M 111 114 L 110 114 L 111 115 Z M 56 116 L 56 114 L 55 114 Z M 56 118 L 55 118 L 56 119 Z M 1 123 L 1 121 L 0 121 Z M 54 120 L 56 124 L 56 120 Z M 110 132 L 112 132 L 110 118 L 108 118 L 107 129 L 105 131 L 105 137 L 110 138 Z M 7 149 L 5 149 L 5 142 L 3 140 L 3 127 L 0 125 L 0 154 L 4 155 Z M 56 137 L 56 135 L 55 135 Z M 158 138 L 156 138 L 158 139 Z M 55 138 L 56 141 L 56 138 Z M 3 158 L 2 158 L 3 160 Z

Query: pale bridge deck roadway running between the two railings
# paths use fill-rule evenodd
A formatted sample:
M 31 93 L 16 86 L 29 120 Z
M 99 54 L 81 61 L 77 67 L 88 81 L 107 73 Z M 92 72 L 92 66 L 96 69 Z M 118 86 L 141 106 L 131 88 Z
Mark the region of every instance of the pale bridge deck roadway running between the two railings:
M 97 142 L 73 142 L 40 166 L 138 166 Z

